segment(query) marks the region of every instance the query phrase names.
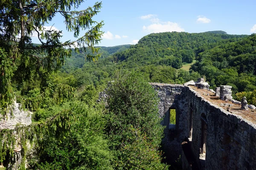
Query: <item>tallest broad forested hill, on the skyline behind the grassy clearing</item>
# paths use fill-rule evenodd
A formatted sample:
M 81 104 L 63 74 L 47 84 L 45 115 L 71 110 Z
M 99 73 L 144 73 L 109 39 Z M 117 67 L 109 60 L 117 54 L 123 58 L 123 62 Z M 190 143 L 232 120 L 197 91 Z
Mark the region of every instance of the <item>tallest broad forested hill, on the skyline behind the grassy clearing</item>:
M 218 32 L 218 31 L 217 31 Z M 113 55 L 115 62 L 137 62 L 139 65 L 160 64 L 181 68 L 191 63 L 198 53 L 218 45 L 218 42 L 237 41 L 247 35 L 213 33 L 164 32 L 149 34 L 131 48 Z

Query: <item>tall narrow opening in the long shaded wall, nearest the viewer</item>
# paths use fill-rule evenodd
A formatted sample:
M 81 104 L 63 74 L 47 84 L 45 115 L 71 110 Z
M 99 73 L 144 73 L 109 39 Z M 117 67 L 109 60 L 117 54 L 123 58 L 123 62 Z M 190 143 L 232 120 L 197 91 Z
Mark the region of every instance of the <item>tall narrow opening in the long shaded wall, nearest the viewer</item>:
M 205 158 L 205 155 L 206 155 L 206 137 L 207 137 L 207 119 L 203 113 L 201 115 L 201 147 L 200 147 L 201 158 Z

